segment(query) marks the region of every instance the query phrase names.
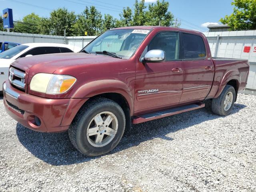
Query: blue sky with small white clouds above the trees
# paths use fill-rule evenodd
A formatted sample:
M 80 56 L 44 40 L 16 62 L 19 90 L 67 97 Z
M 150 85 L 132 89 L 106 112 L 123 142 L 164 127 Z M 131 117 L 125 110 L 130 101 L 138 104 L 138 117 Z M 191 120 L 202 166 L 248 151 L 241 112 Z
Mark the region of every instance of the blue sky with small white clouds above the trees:
M 34 12 L 48 17 L 51 10 L 65 7 L 76 14 L 85 6 L 95 6 L 102 15 L 111 14 L 119 18 L 122 7 L 132 7 L 135 0 L 0 0 L 0 10 L 12 8 L 14 20 L 22 20 L 24 16 Z M 166 0 L 169 11 L 181 21 L 180 28 L 208 31 L 208 24 L 220 24 L 220 18 L 233 12 L 232 0 Z M 22 2 L 22 3 L 20 3 Z M 145 0 L 146 4 L 156 0 Z M 32 4 L 34 6 L 31 6 Z M 38 7 L 36 7 L 38 6 Z M 1 11 L 2 12 L 2 11 Z

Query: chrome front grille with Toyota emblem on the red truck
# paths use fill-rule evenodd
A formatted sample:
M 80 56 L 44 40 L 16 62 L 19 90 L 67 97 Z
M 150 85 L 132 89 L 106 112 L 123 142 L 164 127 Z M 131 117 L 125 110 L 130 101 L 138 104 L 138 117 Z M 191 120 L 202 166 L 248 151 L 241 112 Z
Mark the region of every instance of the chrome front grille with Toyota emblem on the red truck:
M 25 72 L 13 67 L 10 67 L 9 71 L 9 80 L 12 86 L 25 91 Z

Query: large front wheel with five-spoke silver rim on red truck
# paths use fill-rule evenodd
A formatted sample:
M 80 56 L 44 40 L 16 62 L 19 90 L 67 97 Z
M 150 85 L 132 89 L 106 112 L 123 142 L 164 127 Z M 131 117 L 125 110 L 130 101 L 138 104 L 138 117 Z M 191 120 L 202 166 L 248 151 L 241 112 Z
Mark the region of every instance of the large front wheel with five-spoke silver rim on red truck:
M 68 135 L 82 154 L 99 156 L 117 146 L 124 134 L 125 123 L 124 111 L 116 102 L 96 98 L 78 111 Z

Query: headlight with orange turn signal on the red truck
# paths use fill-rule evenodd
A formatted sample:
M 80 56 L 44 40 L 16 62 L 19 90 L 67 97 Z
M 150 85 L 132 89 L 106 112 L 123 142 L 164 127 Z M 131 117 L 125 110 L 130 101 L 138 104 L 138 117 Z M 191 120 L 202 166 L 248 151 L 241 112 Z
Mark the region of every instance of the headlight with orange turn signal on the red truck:
M 30 82 L 30 90 L 46 94 L 62 94 L 70 90 L 75 82 L 76 78 L 69 75 L 38 73 Z

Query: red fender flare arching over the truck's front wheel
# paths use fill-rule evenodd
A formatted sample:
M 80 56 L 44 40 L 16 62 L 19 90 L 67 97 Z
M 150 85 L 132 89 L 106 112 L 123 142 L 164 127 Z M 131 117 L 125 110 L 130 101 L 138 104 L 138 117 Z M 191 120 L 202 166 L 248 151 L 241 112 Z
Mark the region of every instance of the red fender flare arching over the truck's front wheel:
M 90 98 L 104 93 L 121 94 L 127 101 L 130 112 L 134 110 L 134 90 L 128 87 L 127 84 L 120 80 L 97 80 L 88 82 L 73 94 L 72 98 Z

